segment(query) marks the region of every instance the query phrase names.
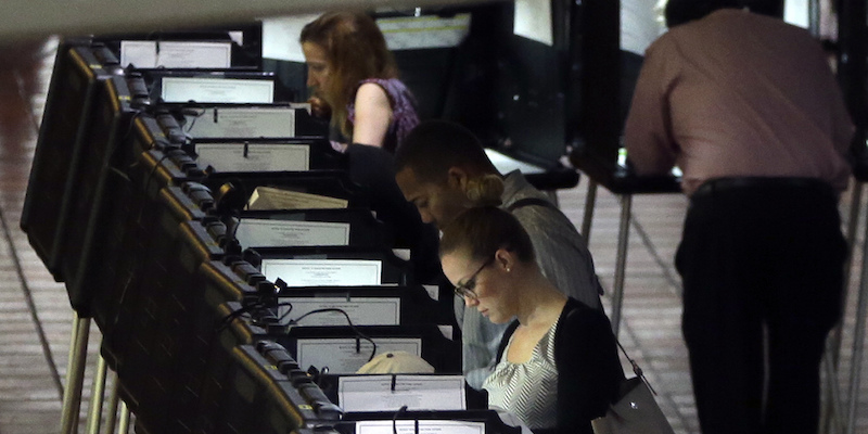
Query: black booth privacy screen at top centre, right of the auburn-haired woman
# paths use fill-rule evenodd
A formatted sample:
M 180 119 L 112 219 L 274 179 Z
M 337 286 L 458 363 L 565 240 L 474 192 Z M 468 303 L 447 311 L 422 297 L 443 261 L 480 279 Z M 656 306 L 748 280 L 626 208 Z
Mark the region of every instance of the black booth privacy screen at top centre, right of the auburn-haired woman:
M 470 13 L 469 35 L 457 47 L 397 50 L 395 58 L 422 119 L 455 120 L 486 148 L 558 168 L 566 154 L 569 26 L 553 21 L 553 46 L 515 36 L 513 9 L 490 3 L 426 11 Z M 552 16 L 569 16 L 569 9 L 553 1 Z

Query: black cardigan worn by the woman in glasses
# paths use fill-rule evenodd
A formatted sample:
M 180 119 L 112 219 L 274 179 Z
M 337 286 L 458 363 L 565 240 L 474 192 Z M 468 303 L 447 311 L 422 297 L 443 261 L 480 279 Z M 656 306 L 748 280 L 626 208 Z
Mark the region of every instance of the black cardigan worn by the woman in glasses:
M 519 321 L 513 321 L 503 333 L 498 362 L 518 327 Z M 554 330 L 554 362 L 558 368 L 557 427 L 534 432 L 592 434 L 590 421 L 605 414 L 624 380 L 615 336 L 602 310 L 575 298 L 566 301 Z

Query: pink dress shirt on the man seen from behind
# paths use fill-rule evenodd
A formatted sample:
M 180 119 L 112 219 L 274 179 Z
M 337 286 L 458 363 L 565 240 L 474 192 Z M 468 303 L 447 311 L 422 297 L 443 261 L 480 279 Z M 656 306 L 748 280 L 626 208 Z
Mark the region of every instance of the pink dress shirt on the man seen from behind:
M 736 9 L 672 28 L 646 51 L 625 127 L 639 175 L 682 173 L 688 195 L 720 177 L 847 186 L 853 124 L 804 29 Z

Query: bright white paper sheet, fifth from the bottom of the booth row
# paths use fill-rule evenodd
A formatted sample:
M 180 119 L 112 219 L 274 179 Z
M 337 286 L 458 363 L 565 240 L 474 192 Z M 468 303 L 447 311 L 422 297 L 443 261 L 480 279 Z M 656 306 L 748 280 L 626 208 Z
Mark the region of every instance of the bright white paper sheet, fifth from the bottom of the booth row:
M 379 285 L 383 272 L 380 260 L 369 259 L 263 259 L 266 279 L 278 278 L 290 286 Z

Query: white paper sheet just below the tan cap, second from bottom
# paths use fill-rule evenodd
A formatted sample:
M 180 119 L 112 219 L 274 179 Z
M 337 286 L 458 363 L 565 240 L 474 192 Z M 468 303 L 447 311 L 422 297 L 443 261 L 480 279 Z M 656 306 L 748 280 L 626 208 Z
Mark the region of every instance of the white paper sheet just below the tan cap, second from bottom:
M 356 375 L 337 383 L 344 411 L 465 410 L 462 375 Z

